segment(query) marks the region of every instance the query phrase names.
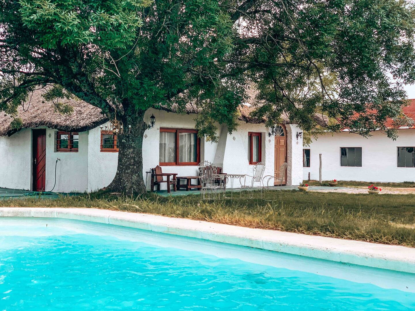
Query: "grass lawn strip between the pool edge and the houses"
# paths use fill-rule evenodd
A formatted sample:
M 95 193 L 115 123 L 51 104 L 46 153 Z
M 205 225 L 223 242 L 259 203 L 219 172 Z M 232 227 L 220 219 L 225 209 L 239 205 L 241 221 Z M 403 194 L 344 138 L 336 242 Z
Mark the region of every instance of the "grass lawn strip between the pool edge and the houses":
M 139 197 L 105 192 L 58 199 L 2 200 L 3 207 L 86 207 L 415 247 L 414 194 L 269 191 L 266 199 L 205 202 L 200 195 Z

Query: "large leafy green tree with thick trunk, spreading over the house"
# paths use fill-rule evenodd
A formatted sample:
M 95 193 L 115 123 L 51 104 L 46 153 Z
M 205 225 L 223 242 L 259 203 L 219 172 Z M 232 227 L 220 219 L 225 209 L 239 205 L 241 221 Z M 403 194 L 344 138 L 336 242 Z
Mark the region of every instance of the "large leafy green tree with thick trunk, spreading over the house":
M 414 12 L 406 0 L 8 0 L 0 110 L 16 116 L 29 92 L 51 85 L 51 97 L 68 92 L 117 116 L 132 131 L 109 187 L 140 192 L 150 107 L 196 104 L 199 135 L 213 141 L 217 123 L 237 130 L 249 87 L 253 116 L 269 125 L 286 112 L 310 130 L 318 112 L 337 119 L 329 129 L 368 135 L 402 121 Z

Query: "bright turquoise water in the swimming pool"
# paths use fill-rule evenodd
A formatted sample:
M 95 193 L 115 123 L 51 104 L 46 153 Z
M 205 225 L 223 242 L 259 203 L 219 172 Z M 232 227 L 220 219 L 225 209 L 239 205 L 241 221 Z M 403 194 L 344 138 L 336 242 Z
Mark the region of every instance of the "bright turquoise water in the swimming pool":
M 0 310 L 414 310 L 413 282 L 116 226 L 0 218 Z

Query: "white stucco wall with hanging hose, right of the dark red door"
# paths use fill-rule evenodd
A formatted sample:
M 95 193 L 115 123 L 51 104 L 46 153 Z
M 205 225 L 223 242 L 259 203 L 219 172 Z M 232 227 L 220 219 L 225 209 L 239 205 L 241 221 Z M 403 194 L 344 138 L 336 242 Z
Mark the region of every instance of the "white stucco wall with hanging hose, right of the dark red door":
M 88 132 L 79 133 L 78 152 L 54 152 L 55 130 L 46 129 L 46 191 L 85 192 L 88 190 Z

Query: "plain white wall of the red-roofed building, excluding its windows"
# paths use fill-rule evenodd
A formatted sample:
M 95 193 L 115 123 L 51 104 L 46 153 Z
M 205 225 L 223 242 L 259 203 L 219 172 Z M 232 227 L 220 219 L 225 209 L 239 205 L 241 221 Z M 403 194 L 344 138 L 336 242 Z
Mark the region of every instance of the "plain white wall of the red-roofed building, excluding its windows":
M 310 168 L 304 168 L 303 178 L 318 180 L 319 153 L 322 154 L 323 180 L 358 180 L 372 182 L 415 181 L 415 168 L 398 168 L 397 147 L 415 146 L 415 129 L 399 130 L 396 141 L 381 131 L 364 138 L 357 134 L 342 132 L 320 136 L 310 144 Z M 362 166 L 340 166 L 340 147 L 361 147 Z

